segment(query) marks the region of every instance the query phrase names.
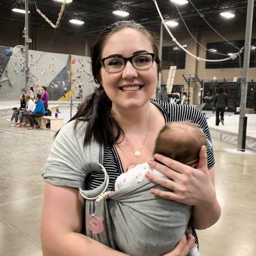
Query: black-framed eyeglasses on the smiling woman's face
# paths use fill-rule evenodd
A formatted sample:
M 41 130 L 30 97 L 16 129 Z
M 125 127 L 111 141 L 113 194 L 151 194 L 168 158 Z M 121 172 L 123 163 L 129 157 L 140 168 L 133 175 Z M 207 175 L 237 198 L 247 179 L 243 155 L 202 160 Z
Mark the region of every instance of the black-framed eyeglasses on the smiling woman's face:
M 127 61 L 132 63 L 132 66 L 138 70 L 151 68 L 155 59 L 154 53 L 135 54 L 129 58 L 120 56 L 111 56 L 102 58 L 101 62 L 106 72 L 117 73 L 124 70 Z

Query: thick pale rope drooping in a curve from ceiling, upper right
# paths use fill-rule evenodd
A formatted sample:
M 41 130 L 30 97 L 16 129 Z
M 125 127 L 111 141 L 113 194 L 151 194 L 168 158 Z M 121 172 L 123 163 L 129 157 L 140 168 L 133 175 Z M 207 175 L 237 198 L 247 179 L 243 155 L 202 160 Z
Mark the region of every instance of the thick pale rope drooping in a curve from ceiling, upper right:
M 164 18 L 163 18 L 162 13 L 161 13 L 160 10 L 159 10 L 157 1 L 156 1 L 156 0 L 153 0 L 153 1 L 154 1 L 155 5 L 156 5 L 156 9 L 157 9 L 157 12 L 158 12 L 158 14 L 159 14 L 159 17 L 161 18 L 161 20 L 162 20 L 162 22 L 163 22 L 163 25 L 164 25 L 164 27 L 166 28 L 166 30 L 168 31 L 169 35 L 172 37 L 173 42 L 175 42 L 175 44 L 177 44 L 184 52 L 187 52 L 191 57 L 195 58 L 197 61 L 221 62 L 221 61 L 227 61 L 227 60 L 236 60 L 237 56 L 243 52 L 243 48 L 241 48 L 241 49 L 239 50 L 239 52 L 236 52 L 236 53 L 230 55 L 229 58 L 220 59 L 220 60 L 207 60 L 207 59 L 204 59 L 204 58 L 200 58 L 199 56 L 195 56 L 193 53 L 189 52 L 186 48 L 184 48 L 184 47 L 177 41 L 177 39 L 173 36 L 172 32 L 170 31 L 170 29 L 168 28 L 168 26 L 167 26 L 166 23 L 165 23 L 165 20 L 164 20 Z

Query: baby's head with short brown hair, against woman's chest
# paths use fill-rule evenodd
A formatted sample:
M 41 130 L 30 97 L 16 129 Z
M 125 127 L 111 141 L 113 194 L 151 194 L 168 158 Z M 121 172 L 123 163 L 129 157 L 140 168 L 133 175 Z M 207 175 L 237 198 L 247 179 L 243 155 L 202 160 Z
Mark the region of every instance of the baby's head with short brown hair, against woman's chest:
M 203 145 L 206 147 L 207 138 L 197 125 L 190 122 L 173 122 L 165 125 L 159 132 L 154 154 L 161 154 L 195 167 Z

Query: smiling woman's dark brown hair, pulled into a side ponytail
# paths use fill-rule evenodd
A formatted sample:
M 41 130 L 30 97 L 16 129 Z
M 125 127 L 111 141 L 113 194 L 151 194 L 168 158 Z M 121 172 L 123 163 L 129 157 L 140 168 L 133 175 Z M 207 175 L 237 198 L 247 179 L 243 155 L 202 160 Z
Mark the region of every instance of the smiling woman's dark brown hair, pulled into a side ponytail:
M 106 95 L 101 84 L 100 60 L 102 58 L 102 49 L 109 36 L 125 28 L 136 29 L 148 38 L 150 44 L 152 44 L 154 54 L 156 55 L 155 61 L 158 70 L 160 70 L 161 66 L 156 40 L 141 24 L 136 24 L 134 21 L 118 21 L 104 29 L 104 31 L 100 33 L 99 39 L 93 44 L 92 49 L 92 74 L 95 83 L 99 84 L 99 87 L 95 92 L 86 97 L 84 102 L 79 106 L 76 115 L 71 118 L 71 120 L 76 120 L 75 129 L 79 120 L 88 122 L 84 136 L 84 145 L 89 144 L 93 138 L 100 145 L 111 145 L 118 140 L 121 134 L 124 134 L 121 127 L 111 116 L 112 102 L 108 95 Z

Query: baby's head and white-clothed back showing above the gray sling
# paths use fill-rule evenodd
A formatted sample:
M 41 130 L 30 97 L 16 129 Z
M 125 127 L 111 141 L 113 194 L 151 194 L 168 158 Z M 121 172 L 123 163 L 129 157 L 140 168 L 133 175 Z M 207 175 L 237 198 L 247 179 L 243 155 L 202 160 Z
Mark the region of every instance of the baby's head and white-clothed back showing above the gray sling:
M 200 148 L 206 146 L 206 136 L 195 124 L 176 122 L 165 125 L 159 132 L 154 154 L 161 154 L 180 163 L 196 167 Z M 115 191 L 146 181 L 145 173 L 164 175 L 152 169 L 147 163 L 138 164 L 128 172 L 122 173 L 115 182 Z

